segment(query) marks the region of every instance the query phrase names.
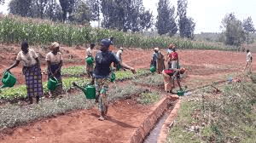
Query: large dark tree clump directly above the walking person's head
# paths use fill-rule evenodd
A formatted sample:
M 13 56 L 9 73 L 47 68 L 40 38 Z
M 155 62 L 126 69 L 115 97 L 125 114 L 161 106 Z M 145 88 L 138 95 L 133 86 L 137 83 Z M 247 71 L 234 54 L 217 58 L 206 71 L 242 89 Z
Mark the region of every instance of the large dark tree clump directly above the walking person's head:
M 135 32 L 152 24 L 152 14 L 144 10 L 142 0 L 102 0 L 101 8 L 106 28 Z

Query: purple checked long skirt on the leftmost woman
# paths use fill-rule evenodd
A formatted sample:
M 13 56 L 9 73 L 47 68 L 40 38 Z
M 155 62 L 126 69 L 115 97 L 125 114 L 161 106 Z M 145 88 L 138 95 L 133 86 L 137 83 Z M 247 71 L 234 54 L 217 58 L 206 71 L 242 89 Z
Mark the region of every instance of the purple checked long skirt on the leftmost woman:
M 28 97 L 41 97 L 43 94 L 42 74 L 38 65 L 24 66 L 23 74 L 26 79 L 26 92 Z

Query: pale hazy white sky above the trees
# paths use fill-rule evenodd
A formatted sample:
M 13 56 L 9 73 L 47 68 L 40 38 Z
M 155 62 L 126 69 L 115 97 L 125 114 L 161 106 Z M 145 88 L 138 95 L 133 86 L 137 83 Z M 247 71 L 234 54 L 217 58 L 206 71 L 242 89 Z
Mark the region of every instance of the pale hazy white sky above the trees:
M 7 14 L 9 0 L 0 5 L 0 12 Z M 159 0 L 143 0 L 146 9 L 157 16 L 157 3 Z M 177 7 L 177 0 L 170 0 L 172 6 Z M 239 20 L 251 16 L 256 26 L 256 0 L 188 0 L 187 14 L 195 21 L 195 33 L 220 32 L 221 20 L 225 14 L 234 13 Z

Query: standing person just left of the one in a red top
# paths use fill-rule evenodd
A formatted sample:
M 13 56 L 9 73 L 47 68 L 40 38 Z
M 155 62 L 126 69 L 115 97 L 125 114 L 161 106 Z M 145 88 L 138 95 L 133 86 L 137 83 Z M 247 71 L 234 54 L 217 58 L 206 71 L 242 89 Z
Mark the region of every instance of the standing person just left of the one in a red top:
M 154 66 L 158 73 L 165 69 L 164 61 L 164 55 L 160 52 L 159 48 L 154 48 L 151 66 Z

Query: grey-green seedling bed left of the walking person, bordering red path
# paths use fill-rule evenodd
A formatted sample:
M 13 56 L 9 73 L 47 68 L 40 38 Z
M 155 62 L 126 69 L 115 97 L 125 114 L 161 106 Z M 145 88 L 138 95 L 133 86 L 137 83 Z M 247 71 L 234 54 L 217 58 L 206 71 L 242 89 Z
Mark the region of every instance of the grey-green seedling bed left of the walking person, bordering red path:
M 84 94 L 63 96 L 56 100 L 42 100 L 39 104 L 29 106 L 21 106 L 20 103 L 6 104 L 0 107 L 0 128 L 11 128 L 55 114 L 87 109 L 92 105 L 93 101 L 86 100 Z

